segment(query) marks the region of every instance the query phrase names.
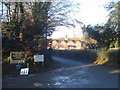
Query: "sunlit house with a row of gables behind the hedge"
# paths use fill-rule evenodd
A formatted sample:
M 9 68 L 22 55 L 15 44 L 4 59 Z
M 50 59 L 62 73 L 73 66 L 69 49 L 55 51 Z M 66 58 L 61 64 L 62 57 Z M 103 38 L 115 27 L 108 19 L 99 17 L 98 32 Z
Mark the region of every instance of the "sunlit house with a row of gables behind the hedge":
M 87 42 L 82 39 L 61 38 L 52 40 L 51 47 L 58 50 L 87 49 Z

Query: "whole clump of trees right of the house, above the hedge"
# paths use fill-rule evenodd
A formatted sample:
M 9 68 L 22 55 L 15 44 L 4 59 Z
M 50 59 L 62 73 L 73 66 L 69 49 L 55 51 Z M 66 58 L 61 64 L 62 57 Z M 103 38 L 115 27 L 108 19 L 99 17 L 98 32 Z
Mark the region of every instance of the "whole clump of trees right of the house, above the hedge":
M 111 12 L 105 25 L 96 25 L 93 27 L 88 25 L 84 26 L 83 30 L 84 33 L 87 33 L 87 37 L 97 40 L 101 47 L 119 47 L 120 2 L 110 3 L 108 8 Z

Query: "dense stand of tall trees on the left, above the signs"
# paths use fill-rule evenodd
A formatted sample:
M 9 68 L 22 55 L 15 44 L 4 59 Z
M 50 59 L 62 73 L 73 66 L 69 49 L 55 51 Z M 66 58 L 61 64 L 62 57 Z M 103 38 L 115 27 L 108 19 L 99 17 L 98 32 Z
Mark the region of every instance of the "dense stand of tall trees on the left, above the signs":
M 70 25 L 67 22 L 70 3 L 13 2 L 4 4 L 8 7 L 8 14 L 11 14 L 10 21 L 3 28 L 7 28 L 9 32 L 9 37 L 6 35 L 3 39 L 3 48 L 5 52 L 8 50 L 8 55 L 10 51 L 18 49 L 36 53 L 39 43 L 46 49 L 47 41 L 45 40 L 52 34 L 55 27 Z M 9 46 L 8 43 L 10 43 Z

